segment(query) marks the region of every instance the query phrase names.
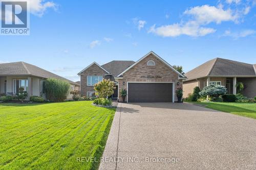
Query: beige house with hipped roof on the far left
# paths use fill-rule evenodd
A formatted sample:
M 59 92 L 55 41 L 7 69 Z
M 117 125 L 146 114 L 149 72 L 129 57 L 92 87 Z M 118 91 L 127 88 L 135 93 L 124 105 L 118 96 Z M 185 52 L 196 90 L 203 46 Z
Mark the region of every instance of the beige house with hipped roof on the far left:
M 43 96 L 43 81 L 47 78 L 56 78 L 71 84 L 71 90 L 80 86 L 68 79 L 53 74 L 45 69 L 39 68 L 25 62 L 13 62 L 0 64 L 0 93 L 14 95 L 19 87 L 24 87 L 28 96 Z M 71 99 L 69 94 L 67 99 Z

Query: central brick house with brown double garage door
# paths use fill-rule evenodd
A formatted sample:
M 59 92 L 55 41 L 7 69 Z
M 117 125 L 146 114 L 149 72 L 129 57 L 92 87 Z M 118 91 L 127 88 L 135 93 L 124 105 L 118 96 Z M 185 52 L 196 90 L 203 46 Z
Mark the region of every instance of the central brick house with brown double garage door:
M 121 102 L 120 92 L 127 90 L 126 102 L 175 102 L 176 89 L 186 77 L 154 52 L 133 61 L 112 61 L 104 65 L 96 62 L 78 73 L 81 94 L 92 95 L 93 85 L 102 78 L 116 82 L 114 95 Z

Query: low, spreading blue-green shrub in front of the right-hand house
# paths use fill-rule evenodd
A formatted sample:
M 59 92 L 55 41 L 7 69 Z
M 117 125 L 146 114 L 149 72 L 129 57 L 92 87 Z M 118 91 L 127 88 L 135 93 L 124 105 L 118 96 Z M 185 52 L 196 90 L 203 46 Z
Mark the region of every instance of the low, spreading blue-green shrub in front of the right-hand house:
M 224 95 L 227 93 L 227 89 L 224 86 L 206 86 L 202 91 L 199 92 L 200 96 L 212 96 L 214 98 L 218 98 L 220 95 Z

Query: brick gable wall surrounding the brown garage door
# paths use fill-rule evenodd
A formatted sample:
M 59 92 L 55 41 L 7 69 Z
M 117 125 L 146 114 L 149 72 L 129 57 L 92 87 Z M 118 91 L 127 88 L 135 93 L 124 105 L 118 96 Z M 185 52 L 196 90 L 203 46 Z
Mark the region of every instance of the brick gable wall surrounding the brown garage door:
M 149 60 L 153 60 L 155 62 L 155 66 L 147 66 L 147 61 Z M 141 76 L 160 76 L 161 78 L 141 78 Z M 168 67 L 157 57 L 150 54 L 131 69 L 124 72 L 123 79 L 118 80 L 119 94 L 122 89 L 127 89 L 127 82 L 174 82 L 174 89 L 176 91 L 178 87 L 182 87 L 182 80 L 178 80 L 178 77 L 177 72 Z M 177 85 L 177 82 L 179 82 L 179 86 Z M 177 101 L 176 93 L 174 96 L 175 101 Z M 121 96 L 119 96 L 119 101 L 122 101 Z

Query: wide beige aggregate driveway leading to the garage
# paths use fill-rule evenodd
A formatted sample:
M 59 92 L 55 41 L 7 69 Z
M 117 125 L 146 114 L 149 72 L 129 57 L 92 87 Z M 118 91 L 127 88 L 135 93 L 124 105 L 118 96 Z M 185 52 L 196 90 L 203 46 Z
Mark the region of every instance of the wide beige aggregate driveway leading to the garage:
M 256 169 L 256 119 L 185 103 L 119 103 L 99 169 Z

